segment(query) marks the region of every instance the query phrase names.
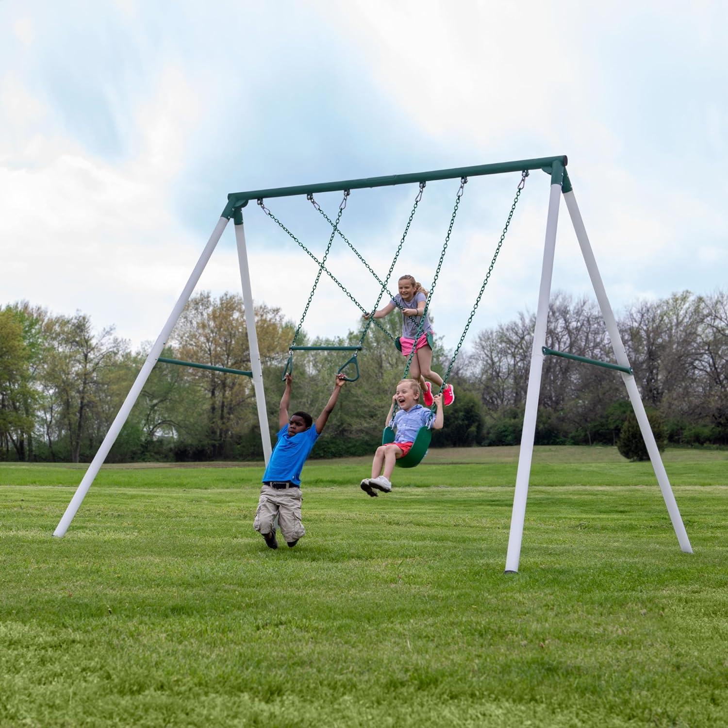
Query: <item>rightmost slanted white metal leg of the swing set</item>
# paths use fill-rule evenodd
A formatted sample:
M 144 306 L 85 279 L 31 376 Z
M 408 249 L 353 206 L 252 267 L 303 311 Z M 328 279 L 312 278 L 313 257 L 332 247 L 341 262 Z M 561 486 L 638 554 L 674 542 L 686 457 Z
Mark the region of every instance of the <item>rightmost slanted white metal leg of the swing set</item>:
M 606 292 L 604 290 L 604 283 L 601 280 L 601 275 L 596 266 L 596 258 L 592 251 L 587 237 L 587 232 L 582 221 L 582 215 L 579 213 L 579 206 L 577 205 L 577 199 L 574 197 L 574 191 L 565 192 L 563 195 L 566 207 L 569 209 L 569 215 L 571 215 L 571 222 L 574 224 L 574 231 L 577 234 L 577 240 L 579 241 L 579 247 L 582 249 L 582 255 L 589 271 L 589 277 L 591 278 L 592 285 L 594 287 L 594 293 L 601 309 L 601 314 L 604 317 L 604 323 L 606 323 L 606 330 L 609 333 L 609 339 L 612 341 L 612 349 L 614 349 L 614 357 L 617 359 L 617 363 L 621 366 L 629 366 L 629 360 L 625 346 L 622 344 L 622 337 L 620 331 L 617 328 L 617 320 L 614 318 L 612 312 L 612 306 L 609 305 L 609 300 L 606 298 Z M 662 464 L 662 457 L 660 457 L 660 451 L 657 449 L 657 443 L 654 440 L 654 434 L 652 433 L 652 427 L 649 426 L 649 420 L 647 414 L 644 411 L 644 405 L 642 404 L 642 398 L 640 397 L 637 389 L 635 378 L 631 374 L 622 373 L 622 380 L 625 382 L 627 392 L 632 403 L 632 408 L 635 412 L 637 422 L 644 438 L 644 443 L 649 454 L 649 459 L 652 461 L 652 467 L 654 474 L 657 476 L 657 483 L 660 484 L 660 491 L 662 491 L 662 498 L 665 499 L 665 505 L 668 507 L 668 513 L 670 514 L 670 521 L 673 523 L 673 529 L 675 529 L 675 535 L 678 537 L 678 543 L 680 544 L 681 550 L 685 553 L 692 553 L 692 547 L 687 537 L 687 531 L 685 530 L 684 523 L 682 521 L 678 505 L 673 494 L 673 489 L 670 487 L 670 480 L 668 480 L 668 474 L 665 472 L 665 466 Z

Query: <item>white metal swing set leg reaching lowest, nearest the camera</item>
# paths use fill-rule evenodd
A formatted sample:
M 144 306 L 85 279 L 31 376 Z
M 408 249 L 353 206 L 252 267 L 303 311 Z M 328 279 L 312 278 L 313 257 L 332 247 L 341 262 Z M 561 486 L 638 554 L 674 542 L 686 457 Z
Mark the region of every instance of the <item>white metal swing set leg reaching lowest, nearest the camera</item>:
M 506 573 L 518 571 L 521 559 L 521 541 L 523 539 L 523 521 L 526 518 L 526 496 L 529 493 L 529 475 L 531 474 L 531 457 L 534 451 L 536 435 L 536 415 L 539 408 L 541 392 L 541 371 L 544 355 L 541 351 L 546 343 L 546 323 L 548 304 L 551 294 L 551 277 L 553 274 L 553 254 L 556 245 L 556 227 L 558 224 L 558 203 L 561 199 L 561 185 L 551 185 L 546 221 L 546 240 L 544 257 L 541 266 L 541 285 L 539 286 L 539 306 L 536 313 L 534 345 L 531 349 L 531 371 L 529 387 L 526 390 L 526 412 L 523 415 L 523 432 L 521 433 L 521 451 L 518 454 L 518 472 L 515 476 L 515 493 L 513 494 L 513 513 L 510 517 L 510 534 L 508 536 L 508 552 L 505 560 Z

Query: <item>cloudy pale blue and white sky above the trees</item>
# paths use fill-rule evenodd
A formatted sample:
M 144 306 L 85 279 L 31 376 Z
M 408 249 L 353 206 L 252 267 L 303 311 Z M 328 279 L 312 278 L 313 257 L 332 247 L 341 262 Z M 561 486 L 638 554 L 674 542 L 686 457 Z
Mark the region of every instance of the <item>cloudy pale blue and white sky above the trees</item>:
M 722 1 L 0 0 L 0 305 L 80 311 L 136 348 L 229 192 L 558 154 L 615 312 L 725 290 L 727 36 Z M 431 301 L 450 349 L 519 178 L 464 189 Z M 427 185 L 395 279 L 432 287 L 458 186 Z M 380 276 L 416 191 L 349 197 L 341 229 Z M 535 311 L 548 196 L 531 173 L 466 346 Z M 340 199 L 317 196 L 332 218 Z M 331 229 L 305 197 L 266 205 L 323 255 Z M 256 303 L 298 323 L 317 266 L 257 205 L 244 218 Z M 327 267 L 374 306 L 379 285 L 341 240 Z M 232 223 L 196 290 L 240 292 Z M 556 290 L 593 296 L 563 201 Z M 306 331 L 359 325 L 323 276 Z

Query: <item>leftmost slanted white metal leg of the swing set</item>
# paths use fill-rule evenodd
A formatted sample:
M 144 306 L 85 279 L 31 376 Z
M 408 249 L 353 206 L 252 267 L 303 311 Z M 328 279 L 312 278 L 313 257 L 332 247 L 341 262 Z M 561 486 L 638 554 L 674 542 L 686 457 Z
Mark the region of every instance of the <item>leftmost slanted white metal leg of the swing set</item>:
M 218 224 L 213 230 L 213 234 L 210 235 L 210 240 L 207 241 L 207 245 L 205 245 L 205 250 L 203 250 L 202 255 L 199 256 L 199 261 L 197 261 L 197 265 L 194 266 L 194 271 L 192 271 L 192 274 L 187 281 L 187 285 L 184 287 L 184 290 L 180 294 L 180 297 L 178 298 L 175 307 L 172 309 L 172 313 L 167 319 L 167 323 L 165 323 L 164 328 L 162 328 L 162 332 L 157 337 L 157 341 L 154 342 L 154 346 L 151 347 L 149 356 L 146 357 L 146 361 L 144 362 L 141 371 L 138 373 L 134 384 L 132 384 L 132 388 L 129 390 L 129 394 L 124 400 L 122 408 L 119 410 L 119 413 L 116 414 L 114 422 L 111 423 L 111 427 L 106 433 L 106 437 L 103 438 L 103 443 L 101 443 L 100 448 L 98 448 L 94 459 L 92 460 L 91 464 L 88 467 L 88 470 L 86 471 L 86 475 L 84 475 L 79 487 L 76 488 L 76 493 L 71 499 L 71 502 L 68 504 L 68 507 L 66 508 L 66 513 L 63 514 L 63 518 L 60 519 L 60 521 L 58 522 L 58 526 L 56 526 L 55 531 L 53 531 L 54 536 L 63 536 L 63 534 L 65 534 L 68 530 L 68 526 L 71 525 L 71 521 L 74 520 L 74 515 L 76 515 L 76 511 L 79 510 L 79 507 L 82 504 L 84 497 L 91 487 L 91 483 L 93 483 L 96 474 L 103 464 L 103 461 L 106 460 L 108 451 L 111 450 L 111 446 L 114 445 L 114 441 L 116 440 L 119 432 L 124 426 L 124 422 L 127 421 L 127 417 L 129 416 L 129 413 L 134 406 L 134 403 L 136 402 L 139 393 L 146 383 L 146 380 L 149 377 L 149 373 L 151 373 L 152 368 L 154 368 L 154 365 L 157 363 L 157 357 L 159 357 L 159 355 L 162 353 L 162 349 L 165 348 L 167 338 L 170 336 L 170 333 L 172 332 L 175 323 L 177 323 L 182 309 L 189 300 L 189 297 L 194 290 L 195 285 L 197 285 L 197 281 L 199 280 L 202 271 L 205 269 L 207 261 L 210 260 L 210 256 L 212 255 L 213 250 L 215 250 L 215 245 L 217 245 L 218 240 L 220 240 L 220 236 L 223 234 L 223 230 L 225 229 L 227 222 L 227 218 L 220 218 Z

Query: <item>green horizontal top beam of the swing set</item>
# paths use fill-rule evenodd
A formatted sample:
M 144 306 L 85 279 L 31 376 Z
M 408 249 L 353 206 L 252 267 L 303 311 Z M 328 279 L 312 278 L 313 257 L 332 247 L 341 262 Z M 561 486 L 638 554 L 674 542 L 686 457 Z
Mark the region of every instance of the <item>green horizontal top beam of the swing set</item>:
M 336 192 L 345 189 L 363 189 L 365 187 L 386 187 L 395 184 L 411 184 L 415 182 L 431 182 L 457 177 L 478 177 L 481 175 L 499 175 L 507 172 L 523 172 L 523 170 L 545 170 L 551 173 L 551 165 L 561 162 L 566 167 L 566 155 L 559 157 L 539 157 L 539 159 L 518 159 L 515 162 L 498 162 L 494 165 L 477 165 L 475 167 L 453 167 L 450 170 L 433 170 L 432 172 L 415 172 L 405 175 L 389 175 L 387 177 L 367 177 L 358 180 L 342 180 L 339 182 L 323 182 L 318 184 L 298 185 L 295 187 L 273 187 L 272 189 L 256 189 L 247 192 L 231 192 L 228 204 L 222 216 L 230 219 L 234 210 L 245 207 L 251 199 L 269 199 L 271 197 L 291 197 L 296 194 L 314 194 L 314 192 Z

